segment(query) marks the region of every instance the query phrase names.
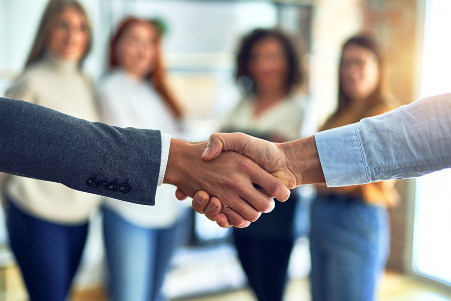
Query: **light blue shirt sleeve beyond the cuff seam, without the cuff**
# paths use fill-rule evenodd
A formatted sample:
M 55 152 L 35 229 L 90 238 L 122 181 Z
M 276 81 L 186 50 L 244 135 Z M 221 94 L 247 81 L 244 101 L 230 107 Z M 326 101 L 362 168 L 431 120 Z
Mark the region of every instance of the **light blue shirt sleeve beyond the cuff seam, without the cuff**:
M 451 94 L 412 102 L 357 123 L 371 182 L 451 167 Z

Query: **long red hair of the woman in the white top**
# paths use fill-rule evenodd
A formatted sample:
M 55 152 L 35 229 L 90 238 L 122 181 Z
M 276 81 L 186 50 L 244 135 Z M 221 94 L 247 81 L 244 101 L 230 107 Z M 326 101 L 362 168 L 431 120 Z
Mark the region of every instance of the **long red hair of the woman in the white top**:
M 111 39 L 110 42 L 110 57 L 109 57 L 109 65 L 110 68 L 114 68 L 120 65 L 118 58 L 116 57 L 116 48 L 119 44 L 119 41 L 122 39 L 124 34 L 134 25 L 138 24 L 145 24 L 150 25 L 155 28 L 157 31 L 158 37 L 157 37 L 157 57 L 156 57 L 156 64 L 154 69 L 146 76 L 146 78 L 149 80 L 149 83 L 153 85 L 155 90 L 160 94 L 160 96 L 164 99 L 166 104 L 171 109 L 172 113 L 175 117 L 181 118 L 182 117 L 182 111 L 177 104 L 174 96 L 170 92 L 169 86 L 167 84 L 166 79 L 166 72 L 164 70 L 164 64 L 163 64 L 163 56 L 161 51 L 161 36 L 162 33 L 159 30 L 159 26 L 156 24 L 156 21 L 148 21 L 143 20 L 139 18 L 130 17 L 121 22 L 119 24 L 118 29 Z

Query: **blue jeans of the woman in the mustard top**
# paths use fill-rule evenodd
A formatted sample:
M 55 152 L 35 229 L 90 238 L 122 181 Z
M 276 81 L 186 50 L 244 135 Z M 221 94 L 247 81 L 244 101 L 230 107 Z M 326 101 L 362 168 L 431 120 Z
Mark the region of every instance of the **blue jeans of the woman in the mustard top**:
M 313 301 L 370 301 L 389 252 L 385 208 L 332 195 L 311 205 Z

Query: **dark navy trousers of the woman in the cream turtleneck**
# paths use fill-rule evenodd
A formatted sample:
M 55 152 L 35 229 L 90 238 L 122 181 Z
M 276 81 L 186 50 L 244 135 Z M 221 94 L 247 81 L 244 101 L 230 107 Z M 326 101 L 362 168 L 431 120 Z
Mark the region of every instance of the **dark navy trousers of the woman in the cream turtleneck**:
M 88 224 L 67 226 L 7 205 L 11 248 L 31 301 L 64 301 L 80 263 Z

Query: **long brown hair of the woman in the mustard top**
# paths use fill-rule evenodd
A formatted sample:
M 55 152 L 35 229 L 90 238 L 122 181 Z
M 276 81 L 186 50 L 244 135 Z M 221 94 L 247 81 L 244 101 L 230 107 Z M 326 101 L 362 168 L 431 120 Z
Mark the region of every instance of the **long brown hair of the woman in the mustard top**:
M 370 51 L 374 55 L 374 57 L 376 58 L 376 61 L 377 61 L 379 78 L 377 81 L 376 89 L 365 101 L 365 103 L 367 104 L 367 110 L 370 111 L 372 108 L 375 108 L 378 105 L 383 105 L 383 104 L 387 105 L 387 100 L 388 100 L 389 96 L 388 96 L 388 92 L 386 89 L 386 83 L 385 83 L 384 60 L 383 60 L 382 53 L 380 52 L 379 47 L 377 46 L 377 43 L 369 35 L 361 34 L 361 35 L 356 35 L 356 36 L 351 37 L 343 44 L 343 47 L 341 49 L 340 66 L 342 64 L 344 50 L 346 49 L 346 47 L 348 47 L 350 45 L 359 46 L 359 47 L 362 47 L 362 48 Z M 338 107 L 337 107 L 337 110 L 328 118 L 323 129 L 330 128 L 330 125 L 338 117 L 340 117 L 344 112 L 346 112 L 348 110 L 350 102 L 351 102 L 349 99 L 349 96 L 346 95 L 346 93 L 343 90 L 343 84 L 341 81 L 340 71 L 338 73 L 339 73 L 338 74 L 338 78 L 339 78 L 339 80 L 338 80 L 338 86 L 339 86 Z M 363 117 L 363 116 L 356 116 L 356 119 L 359 119 L 359 117 Z M 358 121 L 358 120 L 355 120 L 355 121 Z

